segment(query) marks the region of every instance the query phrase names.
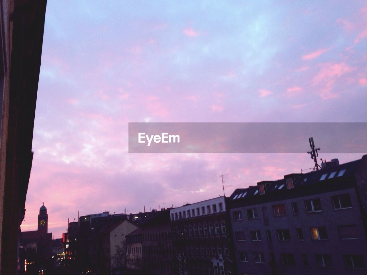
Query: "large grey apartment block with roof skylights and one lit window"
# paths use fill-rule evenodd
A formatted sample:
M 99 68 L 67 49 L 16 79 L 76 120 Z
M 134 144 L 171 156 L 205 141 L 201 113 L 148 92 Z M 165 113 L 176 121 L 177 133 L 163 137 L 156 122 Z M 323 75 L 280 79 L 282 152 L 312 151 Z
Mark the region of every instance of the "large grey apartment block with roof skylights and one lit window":
M 237 274 L 366 274 L 367 155 L 237 189 Z

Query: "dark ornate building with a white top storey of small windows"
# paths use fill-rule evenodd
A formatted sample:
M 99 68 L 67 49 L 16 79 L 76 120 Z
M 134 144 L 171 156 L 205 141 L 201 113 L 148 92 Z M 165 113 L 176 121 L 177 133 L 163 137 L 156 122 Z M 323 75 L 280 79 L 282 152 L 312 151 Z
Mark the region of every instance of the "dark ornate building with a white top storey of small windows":
M 170 210 L 176 274 L 235 274 L 226 198 Z

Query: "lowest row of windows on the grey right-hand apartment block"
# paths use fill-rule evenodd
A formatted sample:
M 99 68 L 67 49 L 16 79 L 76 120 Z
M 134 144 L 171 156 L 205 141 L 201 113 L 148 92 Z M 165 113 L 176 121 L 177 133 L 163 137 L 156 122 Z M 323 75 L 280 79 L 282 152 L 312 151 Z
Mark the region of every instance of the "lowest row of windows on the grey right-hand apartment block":
M 257 264 L 265 264 L 265 256 L 263 252 L 254 252 L 254 261 Z M 295 265 L 296 261 L 294 254 L 292 253 L 281 253 L 280 254 L 281 263 L 284 265 Z M 365 268 L 364 260 L 362 255 L 343 255 L 344 264 L 346 268 Z M 248 254 L 245 251 L 239 252 L 240 262 L 248 262 Z M 270 253 L 270 261 L 275 261 L 274 253 Z M 301 254 L 301 262 L 303 265 L 308 266 L 308 258 L 306 254 Z M 331 255 L 315 255 L 315 262 L 318 267 L 331 268 L 333 265 L 333 258 Z

